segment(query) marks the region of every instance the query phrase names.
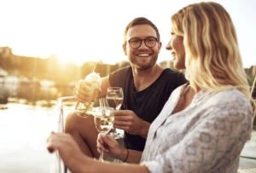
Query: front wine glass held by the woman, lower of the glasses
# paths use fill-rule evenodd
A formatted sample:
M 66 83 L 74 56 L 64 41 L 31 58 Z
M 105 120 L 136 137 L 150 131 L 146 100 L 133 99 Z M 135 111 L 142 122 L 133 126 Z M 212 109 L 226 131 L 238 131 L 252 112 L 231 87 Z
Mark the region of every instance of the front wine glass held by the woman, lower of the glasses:
M 90 113 L 94 116 L 96 130 L 102 135 L 107 135 L 113 128 L 113 107 L 93 107 Z M 99 160 L 104 161 L 103 151 Z

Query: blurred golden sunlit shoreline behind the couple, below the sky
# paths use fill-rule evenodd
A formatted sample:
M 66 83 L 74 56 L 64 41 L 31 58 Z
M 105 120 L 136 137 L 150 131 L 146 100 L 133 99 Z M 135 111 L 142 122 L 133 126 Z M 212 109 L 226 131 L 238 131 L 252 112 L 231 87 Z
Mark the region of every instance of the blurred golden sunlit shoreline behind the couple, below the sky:
M 81 66 L 58 61 L 55 55 L 48 59 L 14 55 L 9 47 L 0 48 L 0 102 L 21 100 L 35 104 L 36 101 L 54 101 L 61 96 L 72 95 L 75 81 L 84 78 L 94 69 L 101 77 L 121 67 L 128 61 L 114 65 L 87 61 Z M 160 66 L 172 68 L 172 61 L 162 61 Z M 253 85 L 256 65 L 245 69 L 247 80 Z M 9 99 L 8 99 L 9 98 Z M 253 89 L 256 98 L 256 89 Z

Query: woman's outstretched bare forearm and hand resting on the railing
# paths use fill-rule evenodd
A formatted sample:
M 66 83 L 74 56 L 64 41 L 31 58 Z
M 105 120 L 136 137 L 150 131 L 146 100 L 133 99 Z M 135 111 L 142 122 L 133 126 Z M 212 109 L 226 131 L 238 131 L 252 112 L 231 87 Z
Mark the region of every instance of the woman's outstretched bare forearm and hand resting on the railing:
M 148 173 L 148 169 L 144 165 L 139 164 L 110 164 L 90 159 L 85 156 L 73 137 L 68 134 L 52 133 L 48 138 L 47 148 L 50 153 L 55 150 L 61 154 L 61 159 L 67 168 L 73 173 L 113 173 L 113 172 L 140 172 Z M 135 153 L 131 151 L 131 157 Z

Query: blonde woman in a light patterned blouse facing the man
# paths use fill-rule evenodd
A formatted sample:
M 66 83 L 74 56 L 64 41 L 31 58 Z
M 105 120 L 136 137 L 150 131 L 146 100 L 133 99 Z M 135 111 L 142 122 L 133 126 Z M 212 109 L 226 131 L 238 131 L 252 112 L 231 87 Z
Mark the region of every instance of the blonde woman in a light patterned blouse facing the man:
M 150 125 L 143 153 L 99 136 L 98 150 L 128 163 L 84 156 L 71 137 L 49 136 L 73 172 L 236 172 L 252 130 L 253 110 L 235 27 L 218 3 L 191 4 L 172 15 L 171 50 L 189 84 L 173 91 Z

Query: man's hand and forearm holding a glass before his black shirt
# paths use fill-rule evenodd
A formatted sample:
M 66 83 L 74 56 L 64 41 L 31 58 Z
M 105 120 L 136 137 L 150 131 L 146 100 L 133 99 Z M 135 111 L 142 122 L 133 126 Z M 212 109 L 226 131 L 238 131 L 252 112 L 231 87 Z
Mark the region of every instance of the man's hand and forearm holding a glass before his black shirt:
M 113 127 L 115 128 L 125 130 L 132 135 L 147 137 L 149 126 L 150 124 L 148 122 L 138 118 L 137 115 L 130 110 L 114 111 Z

